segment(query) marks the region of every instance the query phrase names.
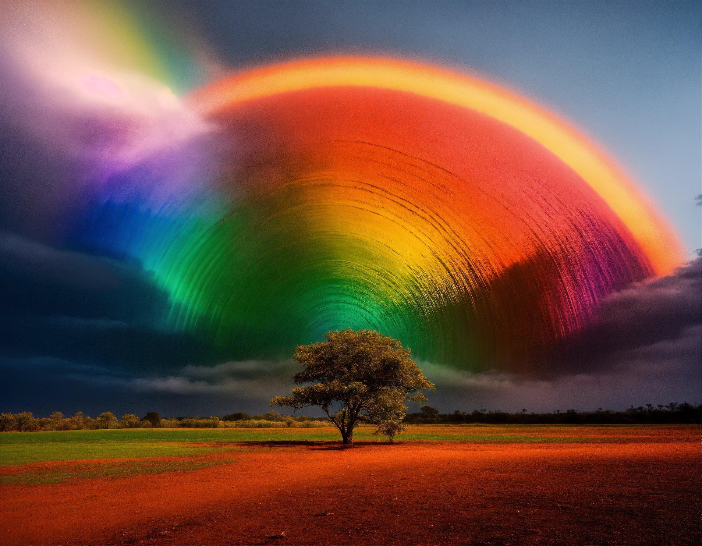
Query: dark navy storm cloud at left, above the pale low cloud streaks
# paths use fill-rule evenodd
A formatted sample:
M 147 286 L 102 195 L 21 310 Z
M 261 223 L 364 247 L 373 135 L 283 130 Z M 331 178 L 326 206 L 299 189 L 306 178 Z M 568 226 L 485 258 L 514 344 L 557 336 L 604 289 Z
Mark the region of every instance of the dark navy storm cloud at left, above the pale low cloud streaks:
M 210 361 L 191 335 L 159 328 L 164 293 L 136 265 L 0 233 L 0 354 L 164 369 Z

